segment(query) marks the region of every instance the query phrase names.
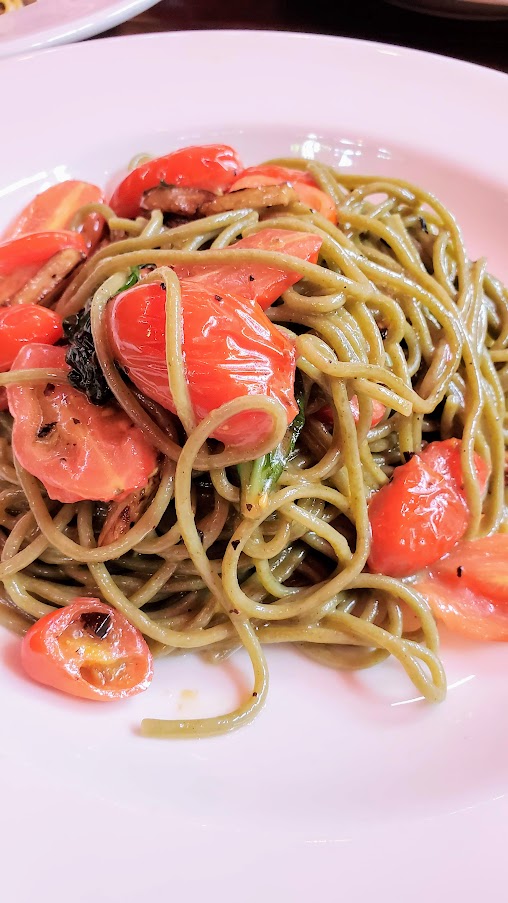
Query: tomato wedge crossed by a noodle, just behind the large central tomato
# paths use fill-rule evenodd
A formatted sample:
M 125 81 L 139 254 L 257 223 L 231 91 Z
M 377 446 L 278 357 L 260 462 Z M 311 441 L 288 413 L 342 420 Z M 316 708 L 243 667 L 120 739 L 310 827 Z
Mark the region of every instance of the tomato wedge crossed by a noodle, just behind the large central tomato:
M 228 250 L 260 250 L 277 251 L 279 254 L 290 254 L 316 263 L 319 249 L 323 243 L 319 235 L 310 232 L 291 232 L 288 229 L 262 229 L 247 238 L 231 245 Z M 278 270 L 262 263 L 223 264 L 223 266 L 176 266 L 175 273 L 179 279 L 191 278 L 218 292 L 237 295 L 256 301 L 263 310 L 270 307 L 282 292 L 301 279 L 299 273 Z

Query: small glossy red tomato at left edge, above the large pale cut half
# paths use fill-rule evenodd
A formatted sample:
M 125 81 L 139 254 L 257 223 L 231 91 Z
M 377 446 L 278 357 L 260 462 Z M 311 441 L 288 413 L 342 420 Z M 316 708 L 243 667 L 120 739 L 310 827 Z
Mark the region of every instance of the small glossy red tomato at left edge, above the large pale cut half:
M 63 336 L 62 318 L 47 307 L 23 304 L 0 308 L 0 372 L 10 370 L 23 345 L 54 345 Z

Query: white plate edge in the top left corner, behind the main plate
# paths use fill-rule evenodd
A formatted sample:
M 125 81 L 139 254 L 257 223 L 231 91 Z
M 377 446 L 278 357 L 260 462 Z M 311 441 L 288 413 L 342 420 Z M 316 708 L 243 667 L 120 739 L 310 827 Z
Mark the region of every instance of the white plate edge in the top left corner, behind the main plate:
M 37 0 L 0 16 L 0 58 L 81 41 L 142 13 L 157 0 Z

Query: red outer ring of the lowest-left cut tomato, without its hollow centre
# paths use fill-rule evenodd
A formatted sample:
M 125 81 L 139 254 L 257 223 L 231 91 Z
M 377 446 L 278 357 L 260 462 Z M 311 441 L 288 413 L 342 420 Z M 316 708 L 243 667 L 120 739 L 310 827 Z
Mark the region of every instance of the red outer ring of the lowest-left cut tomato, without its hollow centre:
M 90 612 L 110 615 L 115 633 L 119 633 L 118 645 L 125 647 L 122 651 L 130 658 L 133 672 L 126 686 L 115 689 L 89 683 L 81 674 L 86 659 L 81 662 L 70 659 L 60 646 L 59 638 L 64 630 L 79 623 L 81 616 Z M 106 641 L 107 638 L 102 642 Z M 38 683 L 98 702 L 115 702 L 142 693 L 148 689 L 153 677 L 152 654 L 140 631 L 109 605 L 99 599 L 84 597 L 45 615 L 30 627 L 21 643 L 21 662 L 26 673 Z

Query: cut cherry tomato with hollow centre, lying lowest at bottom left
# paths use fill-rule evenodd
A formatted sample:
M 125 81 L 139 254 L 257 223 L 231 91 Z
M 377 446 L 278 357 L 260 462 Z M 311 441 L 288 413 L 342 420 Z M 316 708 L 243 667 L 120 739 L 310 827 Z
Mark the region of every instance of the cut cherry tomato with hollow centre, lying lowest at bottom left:
M 148 689 L 152 654 L 137 627 L 99 599 L 77 598 L 23 637 L 27 674 L 55 690 L 114 702 Z

